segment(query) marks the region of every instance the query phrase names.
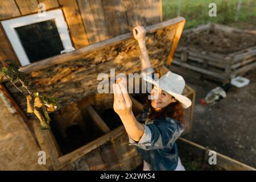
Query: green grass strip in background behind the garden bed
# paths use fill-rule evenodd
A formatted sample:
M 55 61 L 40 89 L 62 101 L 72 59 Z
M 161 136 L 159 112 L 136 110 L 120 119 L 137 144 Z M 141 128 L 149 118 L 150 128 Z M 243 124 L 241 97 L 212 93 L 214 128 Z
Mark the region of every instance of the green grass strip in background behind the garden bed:
M 238 0 L 180 0 L 180 16 L 187 22 L 185 29 L 215 22 L 230 24 L 235 22 Z M 209 3 L 216 3 L 217 16 L 208 15 Z M 174 18 L 178 15 L 179 0 L 162 0 L 163 19 Z M 238 14 L 238 22 L 256 21 L 256 0 L 242 0 Z

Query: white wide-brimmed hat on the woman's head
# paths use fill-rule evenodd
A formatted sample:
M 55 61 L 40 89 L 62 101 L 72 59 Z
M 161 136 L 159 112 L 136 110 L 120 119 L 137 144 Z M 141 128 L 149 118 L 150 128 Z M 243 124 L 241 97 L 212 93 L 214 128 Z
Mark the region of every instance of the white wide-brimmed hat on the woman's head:
M 151 76 L 147 75 L 143 75 L 143 79 L 153 85 L 158 86 L 160 89 L 175 97 L 176 100 L 180 101 L 184 109 L 191 106 L 191 100 L 182 95 L 183 89 L 185 88 L 185 80 L 182 76 L 169 71 L 166 73 L 166 75 L 163 75 L 159 78 L 159 80 L 156 81 L 153 80 Z

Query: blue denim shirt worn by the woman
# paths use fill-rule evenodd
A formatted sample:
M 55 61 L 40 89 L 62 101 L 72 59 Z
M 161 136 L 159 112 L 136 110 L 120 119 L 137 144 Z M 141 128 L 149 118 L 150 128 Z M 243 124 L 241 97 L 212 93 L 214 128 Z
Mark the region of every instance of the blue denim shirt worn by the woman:
M 184 131 L 184 125 L 173 118 L 156 118 L 145 123 L 147 110 L 137 120 L 144 127 L 144 134 L 139 142 L 129 137 L 129 145 L 135 145 L 143 160 L 150 164 L 151 170 L 175 170 L 178 162 L 178 151 L 175 143 Z

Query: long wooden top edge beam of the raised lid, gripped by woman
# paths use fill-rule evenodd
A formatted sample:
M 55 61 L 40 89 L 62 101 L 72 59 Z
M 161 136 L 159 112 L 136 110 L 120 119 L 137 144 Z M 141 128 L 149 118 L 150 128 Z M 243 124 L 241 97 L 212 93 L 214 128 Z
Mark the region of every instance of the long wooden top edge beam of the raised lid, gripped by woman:
M 182 22 L 184 23 L 184 21 L 185 21 L 184 18 L 178 17 L 178 18 L 167 20 L 165 22 L 161 22 L 161 23 L 157 23 L 157 24 L 148 26 L 145 29 L 147 31 L 147 34 L 150 34 L 152 32 L 166 28 L 168 26 L 172 26 L 177 23 L 182 23 Z M 181 29 L 181 27 L 180 27 L 180 29 Z M 131 34 L 131 32 L 129 32 L 127 34 L 116 36 L 112 39 L 104 40 L 102 42 L 98 42 L 98 43 L 95 43 L 95 44 L 92 44 L 92 45 L 89 45 L 86 47 L 76 49 L 75 51 L 72 51 L 72 52 L 64 53 L 63 55 L 49 57 L 48 59 L 44 59 L 42 61 L 38 61 L 38 62 L 32 63 L 30 65 L 26 65 L 24 67 L 21 67 L 19 69 L 19 71 L 26 72 L 26 73 L 39 71 L 40 69 L 48 68 L 55 64 L 64 63 L 69 60 L 78 59 L 90 52 L 97 51 L 97 50 L 105 48 L 107 46 L 113 46 L 115 44 L 123 42 L 124 40 L 131 39 L 131 38 L 133 38 L 133 35 Z M 174 47 L 174 46 L 172 46 L 172 47 Z M 172 51 L 174 51 L 174 49 L 172 49 Z M 172 52 L 172 54 L 173 53 L 174 52 Z M 170 57 L 172 57 L 172 56 L 170 56 Z

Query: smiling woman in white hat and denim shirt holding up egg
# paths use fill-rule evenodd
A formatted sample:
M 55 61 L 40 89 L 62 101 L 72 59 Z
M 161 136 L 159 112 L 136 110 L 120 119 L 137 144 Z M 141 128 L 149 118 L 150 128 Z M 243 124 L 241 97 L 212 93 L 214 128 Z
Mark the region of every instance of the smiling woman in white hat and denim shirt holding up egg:
M 148 77 L 153 75 L 154 69 L 148 57 L 145 34 L 141 26 L 133 29 L 134 38 L 141 50 L 142 73 L 147 75 L 144 80 L 154 85 L 150 93 L 152 100 L 137 121 L 131 111 L 126 79 L 120 77 L 113 84 L 113 107 L 129 135 L 129 144 L 137 146 L 144 160 L 144 170 L 185 170 L 175 141 L 185 128 L 183 108 L 191 106 L 191 101 L 181 95 L 185 87 L 183 77 L 172 72 L 163 75 L 158 82 Z

